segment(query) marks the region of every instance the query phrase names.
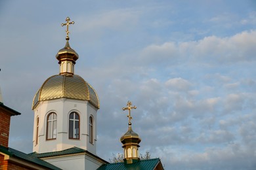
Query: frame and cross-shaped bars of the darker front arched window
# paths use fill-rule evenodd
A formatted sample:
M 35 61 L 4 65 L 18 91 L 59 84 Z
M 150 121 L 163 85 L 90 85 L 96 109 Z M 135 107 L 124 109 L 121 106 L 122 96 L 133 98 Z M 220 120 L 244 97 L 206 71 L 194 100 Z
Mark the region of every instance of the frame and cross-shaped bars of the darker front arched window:
M 70 118 L 70 115 L 73 115 L 73 118 Z M 78 119 L 75 119 L 75 115 L 78 116 Z M 72 129 L 70 129 L 71 124 L 70 124 L 70 120 L 72 121 Z M 75 137 L 75 122 L 78 122 L 78 137 Z M 72 130 L 72 137 L 70 134 L 70 130 Z M 68 139 L 75 139 L 75 140 L 79 140 L 80 139 L 80 115 L 78 114 L 78 112 L 70 112 L 70 114 L 68 115 Z

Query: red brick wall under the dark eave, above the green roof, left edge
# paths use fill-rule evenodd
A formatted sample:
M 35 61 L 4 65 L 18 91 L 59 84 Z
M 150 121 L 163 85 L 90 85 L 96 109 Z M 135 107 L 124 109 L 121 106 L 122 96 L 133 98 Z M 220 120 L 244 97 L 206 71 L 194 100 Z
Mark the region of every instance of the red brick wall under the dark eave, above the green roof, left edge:
M 0 110 L 0 145 L 8 147 L 11 115 Z

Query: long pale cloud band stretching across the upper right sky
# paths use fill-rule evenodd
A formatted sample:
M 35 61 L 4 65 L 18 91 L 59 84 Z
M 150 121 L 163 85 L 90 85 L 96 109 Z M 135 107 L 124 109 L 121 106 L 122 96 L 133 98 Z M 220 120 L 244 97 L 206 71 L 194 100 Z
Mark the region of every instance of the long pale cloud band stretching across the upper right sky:
M 244 31 L 232 37 L 204 37 L 199 41 L 151 44 L 140 54 L 140 62 L 148 64 L 181 64 L 201 62 L 209 65 L 255 61 L 256 31 Z

